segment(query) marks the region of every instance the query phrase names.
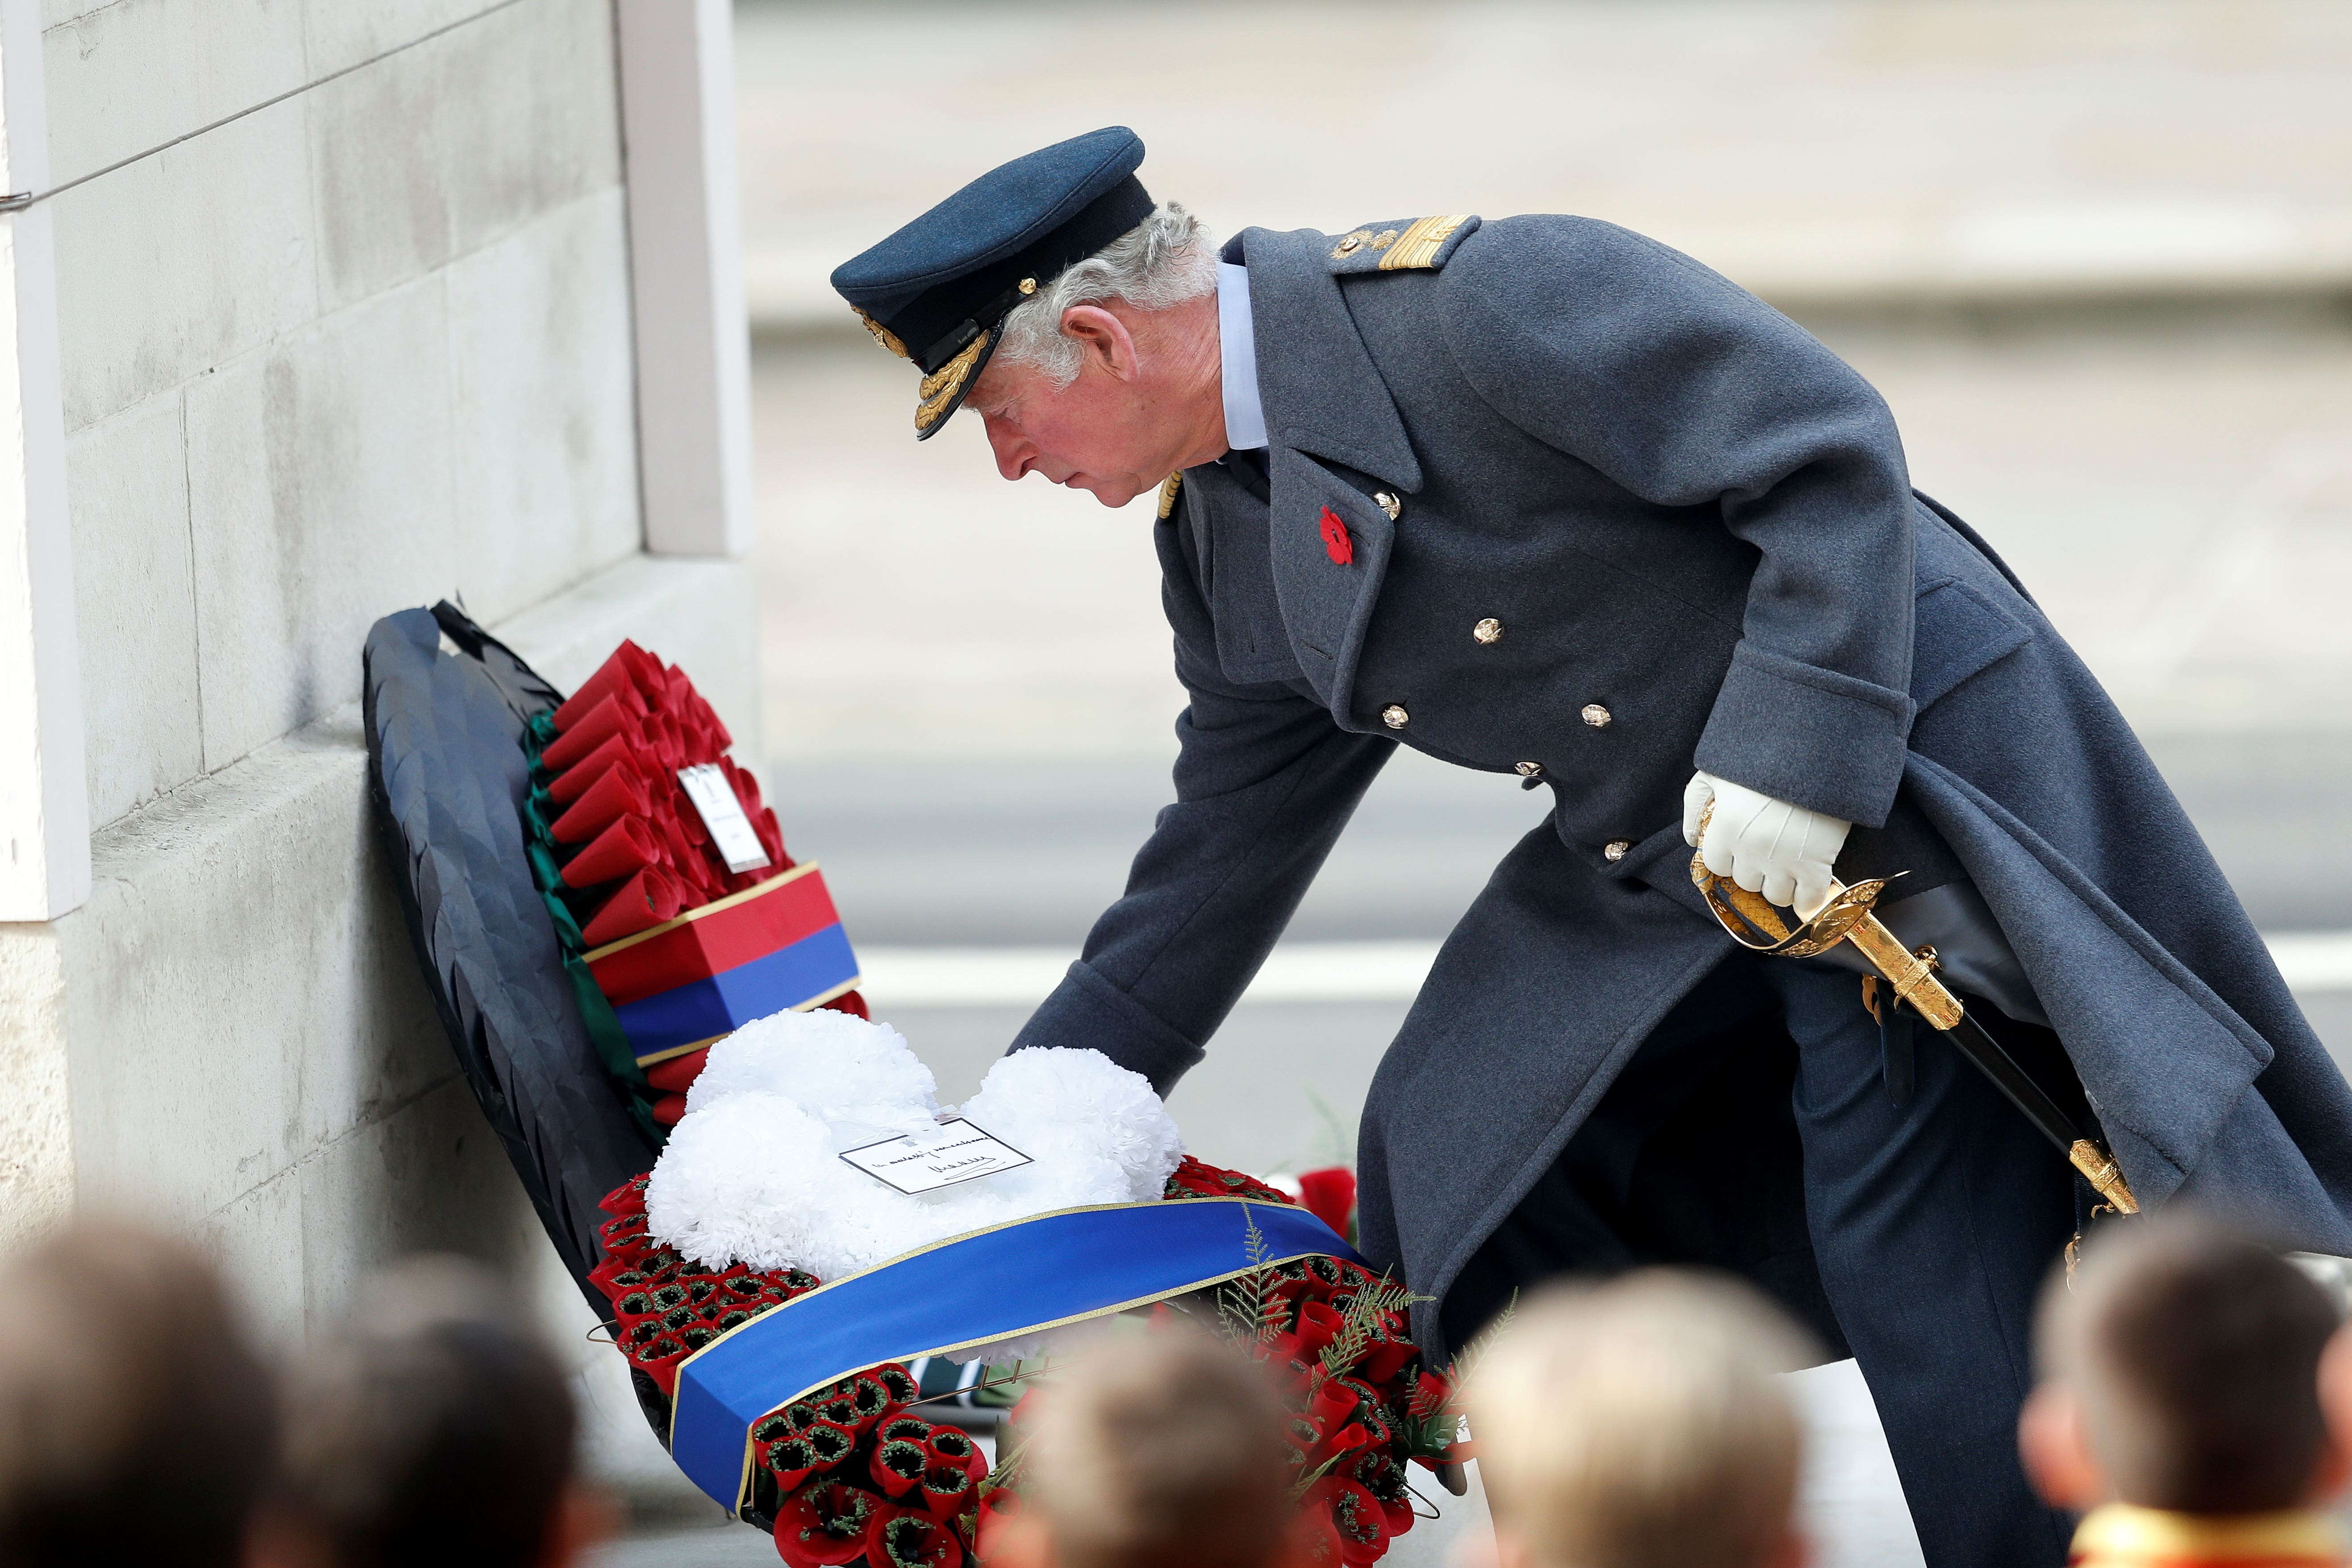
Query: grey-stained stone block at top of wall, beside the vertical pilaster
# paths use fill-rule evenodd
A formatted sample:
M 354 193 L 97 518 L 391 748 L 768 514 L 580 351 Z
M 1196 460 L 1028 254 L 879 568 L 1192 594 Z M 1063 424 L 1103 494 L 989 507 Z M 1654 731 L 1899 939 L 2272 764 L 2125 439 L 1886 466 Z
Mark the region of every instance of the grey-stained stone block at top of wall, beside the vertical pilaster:
M 306 94 L 329 306 L 616 186 L 614 99 L 593 0 L 524 0 Z

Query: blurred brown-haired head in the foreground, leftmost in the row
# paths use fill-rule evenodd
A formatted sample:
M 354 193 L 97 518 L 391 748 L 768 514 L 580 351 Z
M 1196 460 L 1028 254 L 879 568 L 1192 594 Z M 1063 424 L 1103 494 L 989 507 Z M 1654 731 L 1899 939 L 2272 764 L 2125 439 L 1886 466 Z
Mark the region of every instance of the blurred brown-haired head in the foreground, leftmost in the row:
M 270 1385 L 186 1244 L 78 1225 L 0 1291 L 0 1563 L 242 1561 Z

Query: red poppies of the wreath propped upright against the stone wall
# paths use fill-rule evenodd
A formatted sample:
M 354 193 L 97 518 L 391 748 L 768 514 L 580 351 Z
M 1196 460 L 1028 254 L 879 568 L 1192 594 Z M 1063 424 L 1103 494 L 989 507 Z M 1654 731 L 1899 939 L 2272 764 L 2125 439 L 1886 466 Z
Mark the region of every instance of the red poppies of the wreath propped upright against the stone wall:
M 532 788 L 522 804 L 532 882 L 555 919 L 555 940 L 607 1072 L 628 1091 L 640 1126 L 661 1138 L 684 1114 L 703 1051 L 649 1067 L 626 1039 L 583 954 L 743 893 L 793 870 L 760 783 L 727 750 L 734 736 L 677 665 L 621 642 L 579 691 L 522 731 Z M 677 771 L 710 764 L 734 790 L 767 865 L 727 870 Z M 866 1018 L 858 992 L 821 1006 Z

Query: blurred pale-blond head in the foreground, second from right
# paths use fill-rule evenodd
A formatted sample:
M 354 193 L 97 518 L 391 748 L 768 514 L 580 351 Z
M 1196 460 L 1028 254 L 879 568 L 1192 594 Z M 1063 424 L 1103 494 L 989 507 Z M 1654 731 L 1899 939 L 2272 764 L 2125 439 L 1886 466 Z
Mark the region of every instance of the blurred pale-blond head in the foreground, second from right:
M 1668 1269 L 1550 1288 L 1477 1354 L 1470 1436 L 1501 1568 L 1797 1568 L 1804 1338 Z

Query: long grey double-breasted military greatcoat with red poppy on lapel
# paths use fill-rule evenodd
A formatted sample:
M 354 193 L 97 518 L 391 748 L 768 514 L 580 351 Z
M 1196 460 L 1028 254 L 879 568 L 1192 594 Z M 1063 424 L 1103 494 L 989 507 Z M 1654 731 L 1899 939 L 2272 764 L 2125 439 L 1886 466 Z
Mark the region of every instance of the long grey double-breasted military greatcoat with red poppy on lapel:
M 1853 820 L 1846 879 L 1973 882 L 2143 1201 L 2352 1253 L 2352 1093 L 1860 376 L 1609 223 L 1468 219 L 1414 268 L 1240 244 L 1272 444 L 1263 480 L 1188 470 L 1157 529 L 1178 799 L 1016 1046 L 1167 1091 L 1397 743 L 1541 780 L 1548 827 L 1446 940 L 1364 1110 L 1364 1251 L 1444 1295 L 1729 952 L 1686 875 L 1698 766 Z

